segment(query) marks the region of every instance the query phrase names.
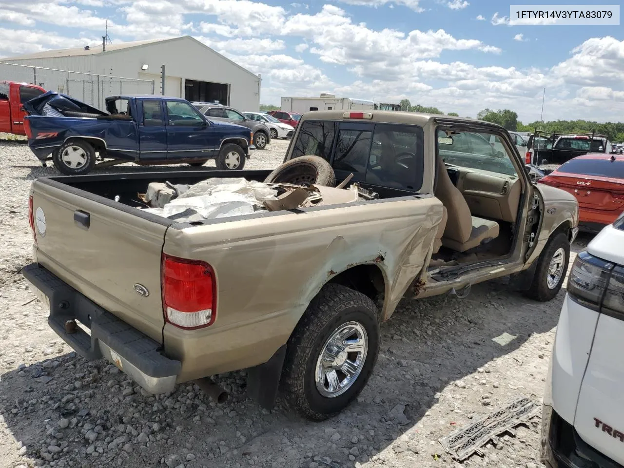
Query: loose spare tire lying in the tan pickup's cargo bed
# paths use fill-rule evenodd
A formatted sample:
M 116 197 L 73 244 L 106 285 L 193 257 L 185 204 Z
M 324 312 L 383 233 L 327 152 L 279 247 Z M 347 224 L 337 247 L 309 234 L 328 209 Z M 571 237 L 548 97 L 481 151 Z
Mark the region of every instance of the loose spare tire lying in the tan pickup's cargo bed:
M 300 156 L 278 166 L 265 178 L 265 183 L 318 184 L 336 187 L 336 174 L 323 158 Z

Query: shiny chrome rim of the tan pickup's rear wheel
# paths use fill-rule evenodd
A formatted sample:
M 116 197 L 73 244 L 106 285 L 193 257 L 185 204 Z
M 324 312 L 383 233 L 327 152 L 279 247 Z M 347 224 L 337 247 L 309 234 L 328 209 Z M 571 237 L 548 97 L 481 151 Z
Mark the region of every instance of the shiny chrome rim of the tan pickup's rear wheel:
M 358 379 L 368 352 L 368 336 L 361 323 L 347 322 L 336 328 L 316 359 L 316 389 L 327 398 L 346 392 Z

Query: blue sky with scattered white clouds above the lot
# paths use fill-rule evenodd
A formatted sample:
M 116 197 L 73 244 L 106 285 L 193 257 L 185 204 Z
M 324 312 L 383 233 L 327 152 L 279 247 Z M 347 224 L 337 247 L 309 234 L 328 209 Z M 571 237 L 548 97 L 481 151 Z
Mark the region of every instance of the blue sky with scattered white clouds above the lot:
M 191 35 L 263 76 L 261 102 L 339 97 L 475 117 L 624 120 L 624 28 L 510 24 L 498 0 L 0 0 L 0 57 Z M 511 22 L 512 23 L 512 22 Z

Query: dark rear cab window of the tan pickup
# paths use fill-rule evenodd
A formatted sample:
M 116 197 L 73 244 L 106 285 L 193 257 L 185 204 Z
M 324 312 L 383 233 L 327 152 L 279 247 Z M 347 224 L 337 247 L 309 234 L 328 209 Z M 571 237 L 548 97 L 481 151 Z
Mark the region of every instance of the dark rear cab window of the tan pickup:
M 353 173 L 356 182 L 419 192 L 423 139 L 416 125 L 306 120 L 291 157 L 322 157 L 339 180 Z

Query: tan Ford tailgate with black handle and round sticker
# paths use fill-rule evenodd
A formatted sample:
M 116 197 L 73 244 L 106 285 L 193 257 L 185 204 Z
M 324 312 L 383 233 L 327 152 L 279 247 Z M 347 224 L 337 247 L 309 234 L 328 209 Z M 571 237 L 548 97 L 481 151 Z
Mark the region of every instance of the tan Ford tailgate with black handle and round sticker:
M 37 263 L 162 343 L 160 262 L 170 222 L 97 198 L 49 180 L 33 184 Z

